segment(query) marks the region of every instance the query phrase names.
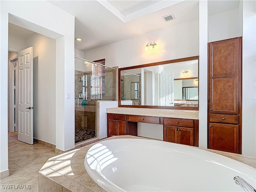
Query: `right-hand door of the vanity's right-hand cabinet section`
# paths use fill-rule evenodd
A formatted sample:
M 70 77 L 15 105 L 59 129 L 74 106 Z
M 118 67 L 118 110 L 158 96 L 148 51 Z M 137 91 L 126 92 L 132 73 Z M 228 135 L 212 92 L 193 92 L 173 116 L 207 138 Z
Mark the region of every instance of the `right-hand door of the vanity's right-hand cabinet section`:
M 178 143 L 184 145 L 194 145 L 194 130 L 193 128 L 179 127 L 178 131 Z

